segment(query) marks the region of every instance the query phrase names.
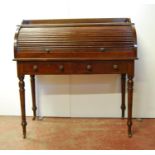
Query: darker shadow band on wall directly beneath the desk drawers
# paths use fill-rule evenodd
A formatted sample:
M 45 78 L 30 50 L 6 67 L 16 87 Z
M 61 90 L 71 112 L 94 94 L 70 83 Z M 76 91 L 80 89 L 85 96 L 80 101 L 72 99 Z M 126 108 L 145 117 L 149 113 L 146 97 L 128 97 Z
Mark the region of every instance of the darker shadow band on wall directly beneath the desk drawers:
M 120 75 L 37 76 L 37 91 L 47 95 L 120 93 Z

